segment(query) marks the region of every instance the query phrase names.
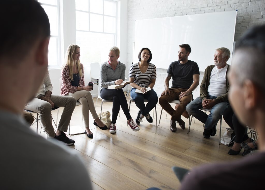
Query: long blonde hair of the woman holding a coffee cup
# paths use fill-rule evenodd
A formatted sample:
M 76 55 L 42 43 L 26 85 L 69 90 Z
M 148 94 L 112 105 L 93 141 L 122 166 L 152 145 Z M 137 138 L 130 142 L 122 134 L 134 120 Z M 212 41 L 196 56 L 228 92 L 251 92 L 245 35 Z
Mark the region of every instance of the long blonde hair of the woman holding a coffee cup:
M 64 67 L 68 67 L 69 77 L 72 81 L 73 81 L 73 66 L 75 62 L 74 57 L 75 57 L 77 48 L 80 48 L 80 47 L 73 43 L 68 46 L 66 53 L 65 53 L 64 65 L 62 66 L 62 69 Z M 81 78 L 83 76 L 83 73 L 82 73 L 81 66 L 80 66 L 80 60 L 76 61 L 76 67 L 78 69 L 78 74 Z

